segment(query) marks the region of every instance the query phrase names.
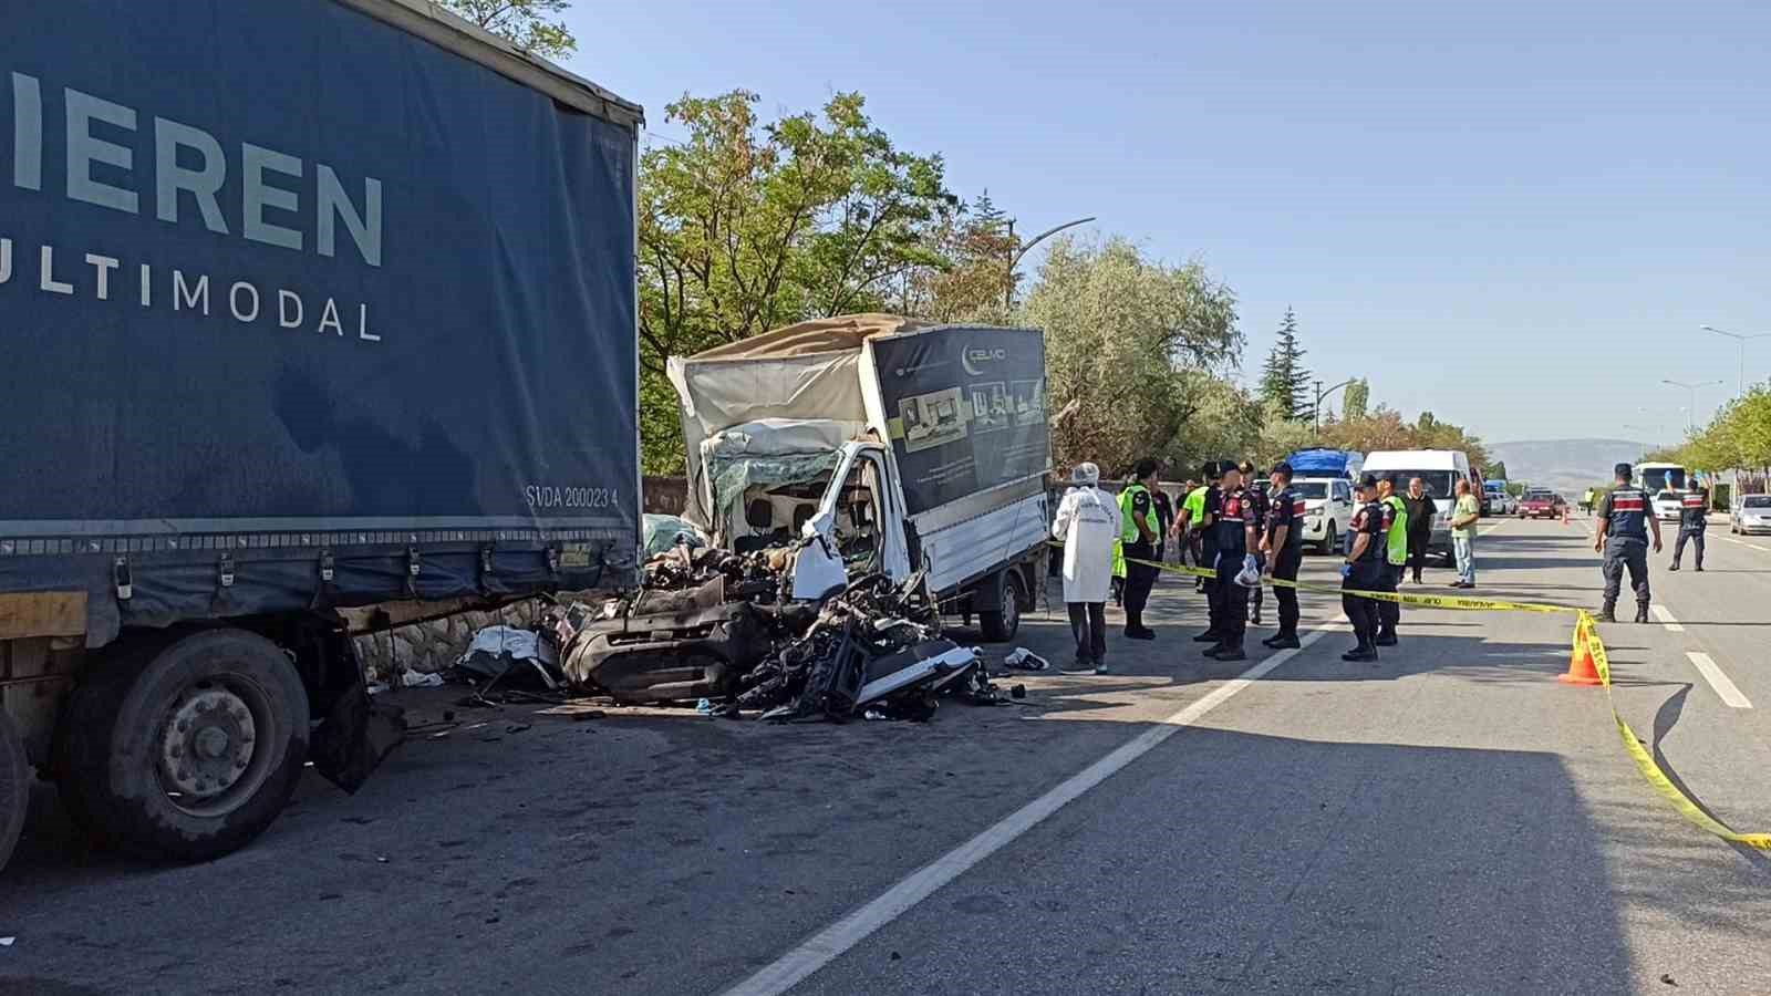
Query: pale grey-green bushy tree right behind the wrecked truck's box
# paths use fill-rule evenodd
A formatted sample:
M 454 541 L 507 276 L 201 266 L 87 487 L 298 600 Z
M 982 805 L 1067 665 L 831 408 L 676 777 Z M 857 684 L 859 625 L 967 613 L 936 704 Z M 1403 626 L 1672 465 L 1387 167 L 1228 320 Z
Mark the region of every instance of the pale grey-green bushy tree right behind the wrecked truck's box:
M 1250 429 L 1247 445 L 1259 429 L 1252 399 L 1213 374 L 1241 349 L 1236 296 L 1195 262 L 1149 261 L 1119 237 L 1059 237 L 1018 317 L 1045 330 L 1057 466 L 1118 473 L 1139 457 L 1201 452 L 1201 432 Z

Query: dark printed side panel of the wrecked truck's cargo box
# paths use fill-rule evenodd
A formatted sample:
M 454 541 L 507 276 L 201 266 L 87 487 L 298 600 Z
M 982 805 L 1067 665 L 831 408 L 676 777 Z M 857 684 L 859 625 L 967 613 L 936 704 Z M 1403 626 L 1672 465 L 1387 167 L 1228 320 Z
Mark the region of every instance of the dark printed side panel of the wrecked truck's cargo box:
M 868 358 L 910 517 L 1048 470 L 1041 333 L 939 326 Z

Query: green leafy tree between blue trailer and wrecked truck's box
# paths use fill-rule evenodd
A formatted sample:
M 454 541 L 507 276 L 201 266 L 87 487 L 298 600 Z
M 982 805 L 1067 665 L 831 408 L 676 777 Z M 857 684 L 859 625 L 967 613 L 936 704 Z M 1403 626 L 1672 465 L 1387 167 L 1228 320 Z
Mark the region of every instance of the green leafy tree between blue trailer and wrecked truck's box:
M 639 362 L 645 466 L 682 471 L 669 356 L 811 317 L 882 310 L 946 259 L 930 232 L 958 198 L 939 156 L 900 151 L 861 94 L 774 122 L 733 90 L 666 108 L 687 133 L 639 161 Z

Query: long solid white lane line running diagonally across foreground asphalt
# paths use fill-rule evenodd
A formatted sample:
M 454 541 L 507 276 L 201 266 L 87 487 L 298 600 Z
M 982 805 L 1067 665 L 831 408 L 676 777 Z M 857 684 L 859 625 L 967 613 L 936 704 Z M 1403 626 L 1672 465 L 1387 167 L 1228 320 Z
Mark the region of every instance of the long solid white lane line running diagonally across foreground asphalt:
M 1132 743 L 1084 767 L 1077 774 L 1071 774 L 1050 792 L 1015 810 L 978 836 L 942 854 L 932 863 L 923 865 L 907 879 L 880 893 L 873 902 L 868 902 L 861 909 L 855 909 L 848 916 L 843 916 L 836 923 L 818 930 L 756 975 L 746 978 L 731 989 L 726 989 L 724 996 L 777 996 L 779 992 L 786 992 L 788 989 L 799 985 L 806 977 L 831 964 L 841 957 L 843 952 L 859 945 L 880 927 L 891 923 L 903 913 L 909 913 L 916 904 L 940 890 L 940 886 L 963 875 L 979 861 L 995 854 L 1006 844 L 1038 826 L 1040 821 L 1073 803 L 1089 789 L 1112 778 L 1125 766 L 1144 757 L 1174 734 L 1197 723 L 1206 712 L 1211 712 L 1241 689 L 1272 673 L 1273 668 L 1302 654 L 1311 643 L 1321 640 L 1323 634 L 1334 629 L 1346 629 L 1346 626 L 1341 622 L 1318 626 L 1303 634 L 1300 640 L 1302 647 L 1296 650 L 1280 650 L 1272 658 L 1266 658 L 1259 665 L 1241 672 L 1236 679 L 1224 682 L 1199 702 L 1194 702 L 1167 720 L 1160 720 L 1156 727 L 1142 732 Z

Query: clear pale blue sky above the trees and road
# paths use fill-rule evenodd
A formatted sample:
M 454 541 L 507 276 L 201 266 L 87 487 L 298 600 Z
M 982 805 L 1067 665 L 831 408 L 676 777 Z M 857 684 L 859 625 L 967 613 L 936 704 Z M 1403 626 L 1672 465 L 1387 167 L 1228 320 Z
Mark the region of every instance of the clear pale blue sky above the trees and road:
M 579 0 L 570 67 L 646 106 L 861 90 L 1024 230 L 1080 214 L 1286 305 L 1326 381 L 1491 441 L 1698 422 L 1771 331 L 1771 5 Z M 1771 340 L 1748 347 L 1771 376 Z M 1647 413 L 1640 409 L 1647 408 Z

